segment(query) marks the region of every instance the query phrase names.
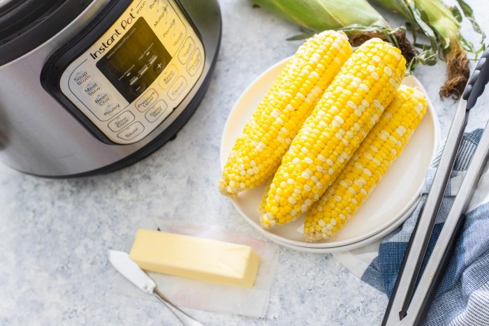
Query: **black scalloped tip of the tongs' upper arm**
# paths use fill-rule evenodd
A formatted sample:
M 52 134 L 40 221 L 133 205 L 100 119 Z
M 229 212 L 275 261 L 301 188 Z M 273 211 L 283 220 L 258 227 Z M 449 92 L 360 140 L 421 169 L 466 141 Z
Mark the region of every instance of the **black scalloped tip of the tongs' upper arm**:
M 477 62 L 476 68 L 465 86 L 462 98 L 467 101 L 465 110 L 470 110 L 476 105 L 477 98 L 481 96 L 489 82 L 489 49 L 484 51 L 481 59 Z

